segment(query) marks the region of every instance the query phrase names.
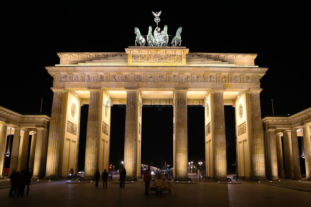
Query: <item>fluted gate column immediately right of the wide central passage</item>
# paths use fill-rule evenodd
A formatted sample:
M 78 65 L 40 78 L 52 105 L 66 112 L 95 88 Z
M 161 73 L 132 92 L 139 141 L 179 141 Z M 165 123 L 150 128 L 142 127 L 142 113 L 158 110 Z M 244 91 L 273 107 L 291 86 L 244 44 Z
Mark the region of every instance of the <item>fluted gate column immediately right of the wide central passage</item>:
M 187 90 L 175 90 L 175 179 L 188 179 Z

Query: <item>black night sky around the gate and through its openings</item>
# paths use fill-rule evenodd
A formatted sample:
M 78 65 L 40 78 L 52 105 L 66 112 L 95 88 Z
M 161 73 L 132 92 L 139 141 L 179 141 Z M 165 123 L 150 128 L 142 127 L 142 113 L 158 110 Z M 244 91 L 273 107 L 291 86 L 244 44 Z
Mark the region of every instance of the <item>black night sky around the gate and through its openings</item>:
M 176 3 L 176 2 L 175 2 Z M 294 114 L 311 106 L 309 27 L 299 5 L 259 3 L 144 2 L 31 3 L 3 5 L 0 105 L 21 114 L 52 108 L 52 77 L 44 66 L 59 63 L 57 52 L 124 52 L 134 46 L 134 27 L 146 35 L 155 28 L 151 11 L 160 11 L 161 30 L 169 35 L 183 27 L 182 45 L 189 52 L 257 53 L 255 64 L 268 67 L 261 79 L 262 117 Z M 141 4 L 141 6 L 139 6 Z M 192 6 L 195 5 L 195 6 Z M 307 53 L 308 50 L 308 53 Z M 125 107 L 114 105 L 111 117 L 110 164 L 123 160 Z M 88 105 L 81 107 L 78 170 L 84 167 Z M 173 108 L 143 107 L 142 163 L 161 167 L 173 161 Z M 228 163 L 235 161 L 234 108 L 225 106 Z M 188 160 L 204 163 L 204 108 L 188 107 Z

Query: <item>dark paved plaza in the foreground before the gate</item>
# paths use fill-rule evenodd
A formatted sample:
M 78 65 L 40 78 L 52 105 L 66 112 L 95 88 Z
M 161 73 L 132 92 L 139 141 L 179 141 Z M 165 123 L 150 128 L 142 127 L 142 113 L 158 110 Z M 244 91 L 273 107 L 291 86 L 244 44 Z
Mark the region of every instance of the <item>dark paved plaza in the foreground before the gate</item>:
M 108 188 L 102 182 L 95 188 L 94 182 L 69 184 L 67 180 L 30 185 L 30 196 L 8 197 L 9 188 L 0 189 L 0 206 L 310 206 L 311 193 L 262 182 L 238 181 L 241 184 L 222 184 L 206 179 L 193 184 L 172 183 L 172 192 L 156 195 L 151 191 L 144 196 L 144 182 L 125 184 L 120 188 L 117 178 L 109 180 Z M 1 181 L 7 182 L 7 181 Z M 0 182 L 0 183 L 1 183 Z M 41 182 L 41 181 L 40 181 Z M 233 181 L 233 183 L 237 183 Z M 265 181 L 264 183 L 269 183 Z M 284 180 L 272 184 L 300 187 L 311 190 L 311 182 Z M 287 183 L 287 184 L 286 184 Z

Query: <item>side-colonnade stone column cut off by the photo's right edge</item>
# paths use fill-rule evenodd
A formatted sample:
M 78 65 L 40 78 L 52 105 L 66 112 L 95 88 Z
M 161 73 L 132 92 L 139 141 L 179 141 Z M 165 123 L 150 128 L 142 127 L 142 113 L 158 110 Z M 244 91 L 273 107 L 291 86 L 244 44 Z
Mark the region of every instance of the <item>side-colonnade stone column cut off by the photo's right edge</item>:
M 310 140 L 310 128 L 309 125 L 302 126 L 304 134 L 304 156 L 306 163 L 306 178 L 304 180 L 311 180 L 311 140 Z

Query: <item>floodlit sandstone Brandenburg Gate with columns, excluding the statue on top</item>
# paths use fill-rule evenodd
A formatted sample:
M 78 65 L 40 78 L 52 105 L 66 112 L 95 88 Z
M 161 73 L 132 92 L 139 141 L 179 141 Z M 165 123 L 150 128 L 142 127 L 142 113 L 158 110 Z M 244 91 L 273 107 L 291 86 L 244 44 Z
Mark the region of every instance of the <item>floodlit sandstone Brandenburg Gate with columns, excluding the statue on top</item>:
M 142 105 L 173 105 L 174 177 L 188 178 L 187 105 L 205 107 L 207 177 L 227 179 L 224 105 L 235 107 L 240 177 L 266 179 L 257 54 L 189 53 L 186 47 L 128 47 L 123 53 L 57 53 L 46 178 L 77 166 L 80 107 L 89 104 L 85 177 L 109 162 L 110 107 L 126 104 L 124 167 L 140 176 Z M 195 121 L 195 120 L 193 120 Z M 239 159 L 243 158 L 243 159 Z

